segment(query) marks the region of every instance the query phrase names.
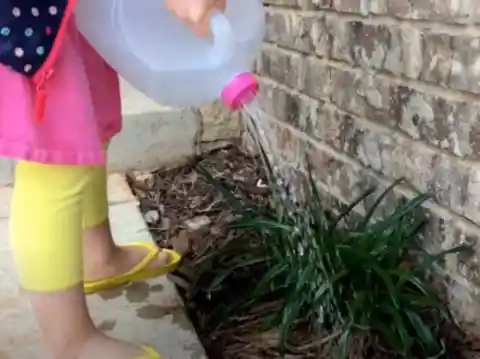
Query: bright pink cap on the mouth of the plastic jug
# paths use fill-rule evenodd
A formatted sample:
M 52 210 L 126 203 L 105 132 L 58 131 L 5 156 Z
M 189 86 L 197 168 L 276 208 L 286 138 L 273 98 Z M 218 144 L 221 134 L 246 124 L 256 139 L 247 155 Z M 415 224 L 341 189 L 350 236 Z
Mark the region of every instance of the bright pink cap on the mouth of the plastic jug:
M 222 100 L 231 110 L 238 110 L 250 103 L 258 93 L 258 82 L 250 72 L 241 73 L 222 91 Z

